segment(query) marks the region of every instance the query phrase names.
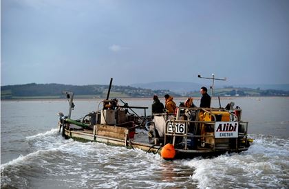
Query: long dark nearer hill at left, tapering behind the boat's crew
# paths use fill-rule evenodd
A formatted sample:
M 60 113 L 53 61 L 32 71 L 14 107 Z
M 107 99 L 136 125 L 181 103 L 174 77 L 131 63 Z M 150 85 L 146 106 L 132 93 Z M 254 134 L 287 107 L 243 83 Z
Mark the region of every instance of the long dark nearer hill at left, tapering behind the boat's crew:
M 1 99 L 33 99 L 33 98 L 64 98 L 63 91 L 74 92 L 75 98 L 106 98 L 108 85 L 63 85 L 63 84 L 36 84 L 6 85 L 1 87 Z M 110 98 L 144 98 L 154 94 L 164 96 L 170 93 L 180 96 L 169 90 L 141 89 L 129 86 L 112 85 Z

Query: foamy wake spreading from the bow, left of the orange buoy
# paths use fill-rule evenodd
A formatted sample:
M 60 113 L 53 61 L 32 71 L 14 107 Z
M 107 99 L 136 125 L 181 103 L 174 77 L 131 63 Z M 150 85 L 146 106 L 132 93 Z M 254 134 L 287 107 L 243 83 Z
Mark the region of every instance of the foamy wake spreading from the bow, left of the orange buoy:
M 175 185 L 149 179 L 163 169 L 160 155 L 64 140 L 58 129 L 26 137 L 26 141 L 33 152 L 1 165 L 1 188 L 41 188 L 45 183 L 52 188 L 54 184 L 56 188 L 94 188 L 95 184 L 99 188 L 129 187 L 127 179 L 148 186 Z

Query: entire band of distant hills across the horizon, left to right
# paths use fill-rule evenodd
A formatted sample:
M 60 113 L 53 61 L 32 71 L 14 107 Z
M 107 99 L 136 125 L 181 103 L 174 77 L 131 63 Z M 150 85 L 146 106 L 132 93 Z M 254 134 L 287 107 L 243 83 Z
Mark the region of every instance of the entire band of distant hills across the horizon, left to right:
M 169 93 L 171 96 L 194 96 L 200 97 L 201 85 L 192 85 L 190 82 L 185 82 L 183 85 L 178 85 L 178 89 L 173 91 L 173 86 L 178 82 L 162 82 L 162 87 L 157 88 L 160 83 L 151 84 L 153 89 L 144 89 L 140 87 L 116 86 L 111 87 L 109 98 L 151 98 L 153 95 L 163 97 Z M 184 90 L 186 86 L 190 86 L 191 91 Z M 143 85 L 149 87 L 149 84 Z M 168 87 L 169 89 L 166 89 Z M 36 84 L 30 83 L 25 85 L 6 85 L 1 87 L 1 99 L 48 99 L 48 98 L 65 98 L 63 91 L 74 92 L 74 98 L 106 98 L 108 85 L 63 85 L 63 84 Z M 175 91 L 182 91 L 178 93 Z M 208 89 L 211 94 L 211 90 Z M 228 86 L 224 88 L 216 88 L 214 96 L 289 96 L 289 91 L 275 89 L 251 89 L 246 87 Z

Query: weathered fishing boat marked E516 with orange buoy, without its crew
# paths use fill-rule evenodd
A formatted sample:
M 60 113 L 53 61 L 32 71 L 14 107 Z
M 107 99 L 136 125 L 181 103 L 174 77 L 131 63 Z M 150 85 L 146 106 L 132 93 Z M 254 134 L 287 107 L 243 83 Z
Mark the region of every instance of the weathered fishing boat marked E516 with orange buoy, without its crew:
M 199 78 L 202 78 L 199 76 Z M 213 85 L 217 79 L 213 80 Z M 74 93 L 65 91 L 69 113 L 58 113 L 58 129 L 65 138 L 87 142 L 103 142 L 127 148 L 140 148 L 160 153 L 164 159 L 211 157 L 222 153 L 248 150 L 248 122 L 242 120 L 242 109 L 231 102 L 222 108 L 177 107 L 175 113 L 147 115 L 148 107 L 131 107 L 118 99 L 101 100 L 95 112 L 72 120 Z M 213 86 L 212 86 L 213 97 Z M 220 100 L 220 98 L 219 98 Z M 136 109 L 142 109 L 139 116 Z

